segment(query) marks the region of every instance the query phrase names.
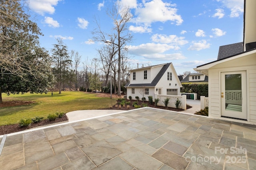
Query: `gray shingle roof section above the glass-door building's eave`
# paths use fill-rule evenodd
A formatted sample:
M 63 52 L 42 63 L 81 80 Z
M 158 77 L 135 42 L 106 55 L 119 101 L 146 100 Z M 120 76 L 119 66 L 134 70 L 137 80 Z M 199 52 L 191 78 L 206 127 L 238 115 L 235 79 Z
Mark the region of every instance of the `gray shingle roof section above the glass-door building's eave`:
M 243 51 L 243 42 L 220 46 L 217 60 L 242 53 Z

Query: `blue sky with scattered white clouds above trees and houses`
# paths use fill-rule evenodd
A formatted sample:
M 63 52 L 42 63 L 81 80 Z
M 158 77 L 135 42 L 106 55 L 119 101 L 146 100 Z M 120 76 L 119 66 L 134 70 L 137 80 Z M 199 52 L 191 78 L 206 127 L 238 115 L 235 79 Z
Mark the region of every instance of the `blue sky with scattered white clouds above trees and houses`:
M 133 18 L 128 23 L 134 40 L 129 47 L 134 68 L 170 63 L 178 74 L 215 61 L 222 45 L 243 41 L 244 0 L 120 0 L 129 5 Z M 68 50 L 77 51 L 82 61 L 98 57 L 102 44 L 90 41 L 97 28 L 111 32 L 106 10 L 115 0 L 30 0 L 34 21 L 44 36 L 41 47 L 50 51 L 56 38 Z

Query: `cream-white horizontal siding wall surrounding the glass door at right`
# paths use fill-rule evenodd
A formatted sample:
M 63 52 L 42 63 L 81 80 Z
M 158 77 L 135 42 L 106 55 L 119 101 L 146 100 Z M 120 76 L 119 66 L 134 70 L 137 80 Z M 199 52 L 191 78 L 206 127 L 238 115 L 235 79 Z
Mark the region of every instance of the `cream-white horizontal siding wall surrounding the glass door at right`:
M 256 53 L 217 64 L 209 69 L 209 117 L 221 116 L 220 73 L 246 71 L 248 121 L 256 123 Z

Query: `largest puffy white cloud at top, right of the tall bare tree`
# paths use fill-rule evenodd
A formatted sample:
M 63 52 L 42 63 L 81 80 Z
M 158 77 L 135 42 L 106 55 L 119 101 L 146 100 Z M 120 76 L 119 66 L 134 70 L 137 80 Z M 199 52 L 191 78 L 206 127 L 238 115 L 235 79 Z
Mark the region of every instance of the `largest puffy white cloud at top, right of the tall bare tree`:
M 176 4 L 163 2 L 162 0 L 142 1 L 140 7 L 136 8 L 135 18 L 132 20 L 135 23 L 150 25 L 153 22 L 173 21 L 176 25 L 182 24 L 183 20 L 177 14 Z

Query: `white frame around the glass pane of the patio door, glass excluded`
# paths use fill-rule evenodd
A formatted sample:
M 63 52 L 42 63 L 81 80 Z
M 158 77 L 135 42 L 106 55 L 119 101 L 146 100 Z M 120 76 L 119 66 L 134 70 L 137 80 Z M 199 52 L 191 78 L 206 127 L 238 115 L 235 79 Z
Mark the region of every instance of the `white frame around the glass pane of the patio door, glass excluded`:
M 241 74 L 242 79 L 242 112 L 226 110 L 226 94 L 225 94 L 225 75 L 226 74 Z M 228 117 L 233 119 L 248 120 L 247 115 L 247 72 L 246 70 L 239 71 L 223 71 L 220 72 L 220 107 L 221 117 Z

